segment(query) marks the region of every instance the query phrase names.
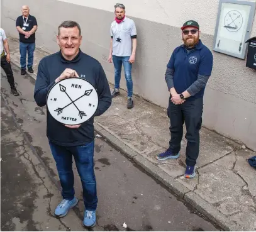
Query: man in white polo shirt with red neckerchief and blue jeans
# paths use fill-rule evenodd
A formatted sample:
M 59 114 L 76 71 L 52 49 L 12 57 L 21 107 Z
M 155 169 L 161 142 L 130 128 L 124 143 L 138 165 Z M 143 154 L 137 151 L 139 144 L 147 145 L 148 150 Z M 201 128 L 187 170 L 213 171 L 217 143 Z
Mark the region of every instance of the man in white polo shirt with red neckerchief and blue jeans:
M 116 3 L 114 6 L 116 18 L 110 28 L 110 50 L 108 61 L 114 62 L 114 91 L 112 97 L 120 94 L 120 79 L 122 65 L 125 68 L 125 79 L 128 94 L 127 108 L 133 108 L 133 80 L 131 79 L 131 66 L 135 62 L 137 33 L 133 19 L 125 16 L 125 6 Z

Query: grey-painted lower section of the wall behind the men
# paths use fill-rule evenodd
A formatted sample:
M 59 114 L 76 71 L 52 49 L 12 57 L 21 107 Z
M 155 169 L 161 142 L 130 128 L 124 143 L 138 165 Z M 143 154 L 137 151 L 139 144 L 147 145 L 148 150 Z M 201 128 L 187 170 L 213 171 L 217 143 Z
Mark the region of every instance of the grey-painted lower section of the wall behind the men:
M 15 21 L 21 14 L 22 4 L 21 0 L 1 1 L 1 27 L 9 36 L 18 36 Z M 67 19 L 77 21 L 82 28 L 81 49 L 97 58 L 109 82 L 114 82 L 113 64 L 106 61 L 113 13 L 56 0 L 27 0 L 26 4 L 38 21 L 38 47 L 57 52 L 55 35 L 58 25 Z M 136 62 L 133 65 L 134 92 L 166 108 L 169 92 L 164 72 L 172 51 L 182 43 L 181 30 L 145 19 L 133 19 L 138 31 Z M 213 47 L 213 35 L 203 31 L 201 39 L 206 46 Z M 213 55 L 214 69 L 206 87 L 203 124 L 256 150 L 256 72 L 245 67 L 245 60 L 216 52 Z M 121 87 L 126 89 L 124 77 Z

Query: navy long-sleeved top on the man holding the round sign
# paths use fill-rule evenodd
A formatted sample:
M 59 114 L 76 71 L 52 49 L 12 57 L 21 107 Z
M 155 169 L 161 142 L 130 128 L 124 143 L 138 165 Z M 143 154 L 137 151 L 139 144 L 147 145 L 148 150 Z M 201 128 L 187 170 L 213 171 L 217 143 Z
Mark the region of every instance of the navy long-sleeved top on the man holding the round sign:
M 89 81 L 97 91 L 99 104 L 94 116 L 100 116 L 111 105 L 111 92 L 108 80 L 101 64 L 94 58 L 79 53 L 73 60 L 66 60 L 61 52 L 42 58 L 38 65 L 34 98 L 38 106 L 45 106 L 47 94 L 55 84 L 57 77 L 65 69 L 73 69 L 79 77 Z M 93 117 L 81 124 L 77 129 L 71 129 L 55 120 L 47 109 L 47 137 L 60 146 L 79 146 L 94 140 Z

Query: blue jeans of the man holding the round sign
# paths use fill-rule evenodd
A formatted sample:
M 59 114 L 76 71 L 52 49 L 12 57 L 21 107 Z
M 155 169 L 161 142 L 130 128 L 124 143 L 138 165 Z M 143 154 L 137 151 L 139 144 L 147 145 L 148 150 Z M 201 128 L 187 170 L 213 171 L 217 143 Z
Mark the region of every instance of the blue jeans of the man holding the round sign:
M 63 199 L 71 200 L 75 196 L 72 156 L 80 175 L 83 189 L 84 205 L 89 211 L 97 207 L 96 177 L 94 174 L 94 141 L 82 146 L 58 146 L 49 141 L 55 159 Z

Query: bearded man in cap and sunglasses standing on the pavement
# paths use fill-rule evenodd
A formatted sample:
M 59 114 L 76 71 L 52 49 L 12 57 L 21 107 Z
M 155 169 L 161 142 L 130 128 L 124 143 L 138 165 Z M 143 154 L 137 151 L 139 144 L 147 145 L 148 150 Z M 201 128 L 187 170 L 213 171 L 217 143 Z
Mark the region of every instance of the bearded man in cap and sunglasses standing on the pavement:
M 184 44 L 175 48 L 165 72 L 170 92 L 167 114 L 170 118 L 169 148 L 157 160 L 179 158 L 183 124 L 186 125 L 186 178 L 196 176 L 199 130 L 202 124 L 203 96 L 213 69 L 213 55 L 199 39 L 199 25 L 189 20 L 181 28 Z

